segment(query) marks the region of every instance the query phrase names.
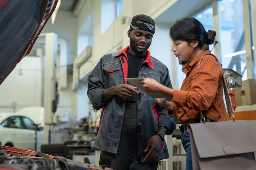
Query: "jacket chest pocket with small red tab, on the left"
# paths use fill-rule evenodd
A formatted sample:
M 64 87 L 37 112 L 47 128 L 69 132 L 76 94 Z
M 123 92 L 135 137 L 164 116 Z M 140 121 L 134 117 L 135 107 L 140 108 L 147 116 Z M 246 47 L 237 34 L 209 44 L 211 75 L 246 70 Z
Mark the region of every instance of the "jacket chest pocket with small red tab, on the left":
M 108 63 L 108 64 L 103 64 L 102 65 L 103 69 L 103 74 L 104 76 L 104 84 L 108 84 L 108 87 L 115 86 L 117 84 L 120 84 L 121 77 L 123 73 L 121 73 L 121 64 L 117 63 Z

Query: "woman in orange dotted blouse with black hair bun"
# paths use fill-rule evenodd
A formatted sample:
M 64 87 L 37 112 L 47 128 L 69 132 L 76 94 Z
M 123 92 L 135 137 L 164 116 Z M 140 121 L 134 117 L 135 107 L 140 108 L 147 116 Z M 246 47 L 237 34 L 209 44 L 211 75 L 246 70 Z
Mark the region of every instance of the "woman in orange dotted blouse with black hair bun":
M 223 101 L 223 70 L 213 55 L 206 54 L 211 51 L 204 51 L 204 44 L 213 44 L 215 36 L 215 31 L 206 32 L 204 26 L 195 18 L 178 20 L 170 29 L 173 41 L 171 50 L 181 62 L 189 60 L 182 68 L 186 78 L 180 90 L 168 88 L 150 78 L 141 81 L 146 91 L 173 99 L 173 102 L 168 102 L 163 98 L 155 98 L 157 104 L 167 108 L 169 115 L 176 116 L 183 124 L 181 141 L 186 151 L 186 170 L 192 170 L 187 124 L 200 122 L 200 110 L 208 122 L 227 120 Z

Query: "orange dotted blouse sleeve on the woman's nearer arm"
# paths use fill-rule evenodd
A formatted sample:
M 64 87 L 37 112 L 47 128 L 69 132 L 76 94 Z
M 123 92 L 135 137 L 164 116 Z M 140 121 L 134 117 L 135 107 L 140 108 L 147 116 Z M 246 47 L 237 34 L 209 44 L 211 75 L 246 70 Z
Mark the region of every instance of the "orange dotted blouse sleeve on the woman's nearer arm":
M 206 55 L 202 58 L 200 67 L 191 71 L 189 81 L 190 89 L 174 90 L 173 102 L 176 107 L 183 108 L 186 113 L 198 112 L 198 110 L 207 110 L 218 91 L 219 79 L 221 74 L 220 63 L 212 55 Z M 186 82 L 185 82 L 186 83 Z

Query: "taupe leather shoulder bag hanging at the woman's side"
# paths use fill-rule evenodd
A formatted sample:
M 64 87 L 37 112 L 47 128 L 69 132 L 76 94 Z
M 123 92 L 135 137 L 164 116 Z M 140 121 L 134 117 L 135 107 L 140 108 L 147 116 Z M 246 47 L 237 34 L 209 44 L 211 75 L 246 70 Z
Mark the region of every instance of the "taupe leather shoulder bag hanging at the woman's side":
M 229 121 L 189 124 L 193 170 L 256 170 L 256 141 L 248 121 L 233 115 L 227 85 L 222 75 Z M 230 120 L 233 117 L 233 121 Z

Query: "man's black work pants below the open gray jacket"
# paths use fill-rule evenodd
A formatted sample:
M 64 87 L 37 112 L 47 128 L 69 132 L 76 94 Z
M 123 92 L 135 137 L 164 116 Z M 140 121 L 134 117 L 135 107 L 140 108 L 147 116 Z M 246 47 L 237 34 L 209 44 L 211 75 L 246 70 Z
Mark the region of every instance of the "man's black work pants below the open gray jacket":
M 137 106 L 126 102 L 124 121 L 117 154 L 101 151 L 100 165 L 114 170 L 157 170 L 158 162 L 137 163 Z

